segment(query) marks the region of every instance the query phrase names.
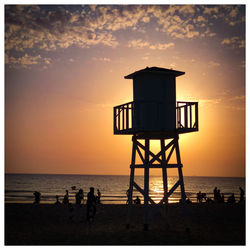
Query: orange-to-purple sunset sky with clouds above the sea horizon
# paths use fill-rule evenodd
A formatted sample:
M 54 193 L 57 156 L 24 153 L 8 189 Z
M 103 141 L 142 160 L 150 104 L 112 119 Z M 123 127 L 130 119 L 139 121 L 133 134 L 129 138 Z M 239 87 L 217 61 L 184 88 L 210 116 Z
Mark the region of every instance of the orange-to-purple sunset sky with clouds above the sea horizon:
M 157 66 L 199 102 L 184 176 L 245 176 L 244 5 L 6 5 L 4 50 L 6 173 L 129 174 L 113 107 Z

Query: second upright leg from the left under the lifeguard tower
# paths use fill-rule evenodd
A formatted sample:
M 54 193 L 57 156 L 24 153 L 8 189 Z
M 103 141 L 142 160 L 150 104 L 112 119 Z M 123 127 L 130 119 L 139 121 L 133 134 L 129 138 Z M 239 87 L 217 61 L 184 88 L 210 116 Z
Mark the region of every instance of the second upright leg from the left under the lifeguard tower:
M 144 230 L 148 230 L 148 200 L 149 200 L 149 139 L 145 139 L 144 168 Z

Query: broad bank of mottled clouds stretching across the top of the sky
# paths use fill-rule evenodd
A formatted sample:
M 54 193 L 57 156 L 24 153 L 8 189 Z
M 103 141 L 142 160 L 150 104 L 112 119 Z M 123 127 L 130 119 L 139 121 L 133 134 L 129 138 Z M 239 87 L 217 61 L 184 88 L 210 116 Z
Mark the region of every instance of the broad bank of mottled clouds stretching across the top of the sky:
M 213 20 L 221 19 L 229 26 L 245 22 L 241 8 L 237 5 L 90 5 L 77 8 L 6 5 L 5 52 L 9 57 L 18 54 L 22 58 L 31 51 L 37 51 L 39 55 L 41 51 L 72 46 L 115 48 L 119 45 L 118 31 L 147 34 L 148 23 L 171 39 L 214 37 Z M 173 47 L 174 43 L 141 41 L 130 46 L 164 50 Z M 241 40 L 238 47 L 244 46 Z

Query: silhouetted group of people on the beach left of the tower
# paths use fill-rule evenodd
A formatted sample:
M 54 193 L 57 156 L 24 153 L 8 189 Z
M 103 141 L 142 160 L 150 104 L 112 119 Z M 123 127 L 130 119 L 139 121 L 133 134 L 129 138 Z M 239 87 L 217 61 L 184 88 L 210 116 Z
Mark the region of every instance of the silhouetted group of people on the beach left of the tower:
M 72 190 L 76 190 L 75 186 L 71 187 Z M 80 188 L 77 192 L 75 192 L 75 206 L 70 202 L 69 199 L 69 191 L 65 191 L 65 195 L 63 196 L 62 202 L 59 200 L 59 195 L 56 195 L 56 205 L 64 204 L 69 207 L 69 219 L 73 220 L 74 217 L 80 217 L 79 220 L 83 221 L 83 215 L 82 215 L 82 205 L 84 204 L 84 192 L 83 189 Z M 41 193 L 38 191 L 35 191 L 34 193 L 34 204 L 39 204 L 41 200 Z M 96 204 L 101 204 L 101 192 L 99 189 L 97 189 L 97 195 L 95 195 L 95 189 L 93 187 L 90 187 L 90 190 L 87 194 L 87 201 L 86 201 L 86 207 L 87 207 L 87 215 L 86 219 L 87 221 L 91 221 L 94 219 L 94 216 L 96 214 Z

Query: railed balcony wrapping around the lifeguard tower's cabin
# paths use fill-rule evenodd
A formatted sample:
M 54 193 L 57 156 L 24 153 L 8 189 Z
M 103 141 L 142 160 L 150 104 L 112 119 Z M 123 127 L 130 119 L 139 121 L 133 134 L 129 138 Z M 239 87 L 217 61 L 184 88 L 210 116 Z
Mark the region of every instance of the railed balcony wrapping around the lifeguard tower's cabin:
M 169 112 L 163 103 L 128 102 L 114 107 L 114 134 L 136 134 L 141 132 L 177 132 L 198 131 L 198 102 L 178 101 Z M 147 119 L 141 119 L 141 117 Z M 142 121 L 149 126 L 145 129 Z M 163 124 L 171 123 L 171 128 Z

